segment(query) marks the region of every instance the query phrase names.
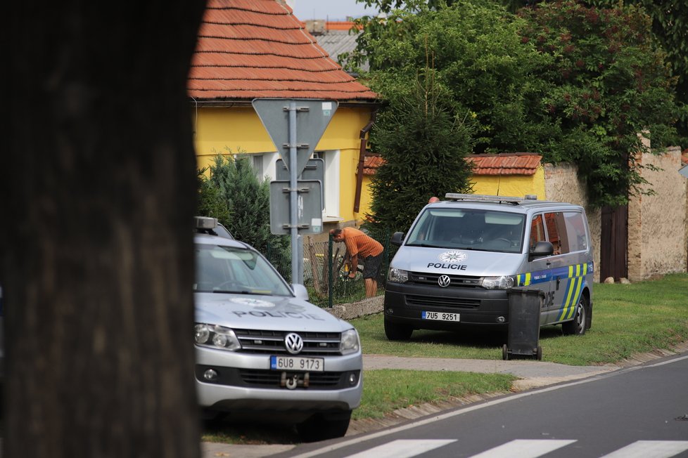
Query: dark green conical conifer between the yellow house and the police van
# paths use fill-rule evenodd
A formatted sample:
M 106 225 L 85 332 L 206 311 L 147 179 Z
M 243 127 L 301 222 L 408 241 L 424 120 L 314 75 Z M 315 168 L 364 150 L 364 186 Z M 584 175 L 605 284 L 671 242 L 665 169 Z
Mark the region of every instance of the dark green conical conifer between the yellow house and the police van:
M 385 162 L 372 179 L 371 235 L 407 230 L 432 196 L 469 192 L 470 126 L 442 106 L 426 69 L 411 94 L 397 93 L 376 122 L 375 145 Z

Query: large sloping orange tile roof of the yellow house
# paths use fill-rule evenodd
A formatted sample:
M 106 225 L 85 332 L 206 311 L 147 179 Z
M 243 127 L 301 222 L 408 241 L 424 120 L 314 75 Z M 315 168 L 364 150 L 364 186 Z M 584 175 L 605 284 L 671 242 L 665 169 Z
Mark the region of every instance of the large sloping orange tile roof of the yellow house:
M 276 0 L 210 0 L 187 82 L 197 100 L 326 98 L 374 102 Z

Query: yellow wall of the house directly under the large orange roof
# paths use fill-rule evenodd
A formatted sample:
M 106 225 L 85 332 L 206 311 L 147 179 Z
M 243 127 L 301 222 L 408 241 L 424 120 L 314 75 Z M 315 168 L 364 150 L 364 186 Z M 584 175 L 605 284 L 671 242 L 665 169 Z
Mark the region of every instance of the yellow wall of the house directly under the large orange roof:
M 361 219 L 369 208 L 362 206 L 358 214 L 353 211 L 361 145 L 359 136 L 361 129 L 370 121 L 370 113 L 371 109 L 366 107 L 338 107 L 315 148 L 340 152 L 339 216 L 343 222 Z M 191 115 L 199 168 L 209 166 L 215 155 L 227 154 L 229 150 L 233 153 L 275 151 L 253 107 L 193 108 Z M 362 191 L 369 195 L 367 187 L 364 186 Z

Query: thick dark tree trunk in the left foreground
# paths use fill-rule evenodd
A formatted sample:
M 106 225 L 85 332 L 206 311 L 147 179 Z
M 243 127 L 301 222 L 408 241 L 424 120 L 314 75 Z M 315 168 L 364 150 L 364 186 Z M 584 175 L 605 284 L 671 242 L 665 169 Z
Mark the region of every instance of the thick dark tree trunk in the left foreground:
M 4 457 L 198 457 L 204 0 L 17 2 L 0 150 Z

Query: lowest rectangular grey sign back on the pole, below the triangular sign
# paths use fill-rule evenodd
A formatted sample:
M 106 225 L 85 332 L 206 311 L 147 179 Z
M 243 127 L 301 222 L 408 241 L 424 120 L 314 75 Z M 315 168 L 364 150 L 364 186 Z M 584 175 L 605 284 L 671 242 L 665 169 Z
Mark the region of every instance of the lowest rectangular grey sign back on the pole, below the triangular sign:
M 299 235 L 322 232 L 321 183 L 317 180 L 299 180 L 296 185 L 296 214 Z M 290 188 L 288 180 L 270 182 L 270 232 L 288 234 L 291 230 L 289 215 Z

